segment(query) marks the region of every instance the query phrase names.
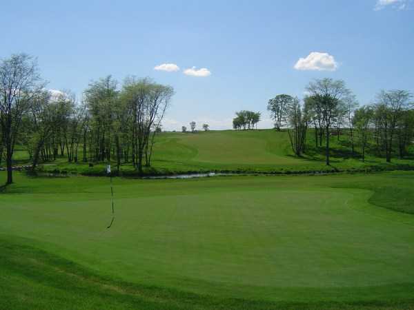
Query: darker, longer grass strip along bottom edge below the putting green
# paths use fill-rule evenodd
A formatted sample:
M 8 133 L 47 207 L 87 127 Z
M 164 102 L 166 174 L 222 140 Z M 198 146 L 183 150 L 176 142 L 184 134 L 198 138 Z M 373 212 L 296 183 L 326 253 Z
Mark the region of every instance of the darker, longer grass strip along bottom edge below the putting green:
M 23 238 L 1 235 L 0 246 L 0 309 L 414 309 L 414 300 L 409 299 L 266 302 L 197 295 L 97 276 Z

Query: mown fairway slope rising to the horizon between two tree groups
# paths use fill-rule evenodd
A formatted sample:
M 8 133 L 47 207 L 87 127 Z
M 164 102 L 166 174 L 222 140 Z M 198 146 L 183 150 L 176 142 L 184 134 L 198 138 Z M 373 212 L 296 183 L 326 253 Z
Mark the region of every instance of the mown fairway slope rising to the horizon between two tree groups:
M 293 156 L 287 132 L 221 130 L 164 133 L 155 144 L 155 165 L 184 162 L 195 167 L 272 169 L 313 164 Z

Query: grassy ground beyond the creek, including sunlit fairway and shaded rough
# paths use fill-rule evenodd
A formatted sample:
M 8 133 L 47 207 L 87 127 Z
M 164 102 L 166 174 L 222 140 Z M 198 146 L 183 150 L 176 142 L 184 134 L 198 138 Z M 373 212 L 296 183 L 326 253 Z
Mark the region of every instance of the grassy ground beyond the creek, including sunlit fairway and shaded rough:
M 162 133 L 157 137 L 154 147 L 152 167 L 147 174 L 179 174 L 186 172 L 335 172 L 387 169 L 413 169 L 412 159 L 393 159 L 386 163 L 370 149 L 366 163 L 359 159 L 358 149 L 355 156 L 350 154 L 348 136 L 344 134 L 337 141 L 331 138 L 331 167 L 325 165 L 324 147 L 315 147 L 313 134 L 308 134 L 308 151 L 302 158 L 293 156 L 287 132 L 275 130 L 250 131 L 210 131 L 192 133 Z M 70 163 L 59 158 L 43 169 L 52 172 L 75 172 L 86 175 L 99 175 L 105 172 L 105 163 Z M 54 164 L 54 165 L 53 165 Z M 124 175 L 136 174 L 130 163 L 123 164 Z

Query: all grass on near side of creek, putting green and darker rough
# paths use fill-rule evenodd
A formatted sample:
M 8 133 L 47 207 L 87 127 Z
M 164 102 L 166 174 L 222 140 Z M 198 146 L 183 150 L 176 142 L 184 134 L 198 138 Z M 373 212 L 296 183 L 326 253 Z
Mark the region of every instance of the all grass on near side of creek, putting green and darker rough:
M 414 307 L 413 172 L 16 181 L 0 309 Z

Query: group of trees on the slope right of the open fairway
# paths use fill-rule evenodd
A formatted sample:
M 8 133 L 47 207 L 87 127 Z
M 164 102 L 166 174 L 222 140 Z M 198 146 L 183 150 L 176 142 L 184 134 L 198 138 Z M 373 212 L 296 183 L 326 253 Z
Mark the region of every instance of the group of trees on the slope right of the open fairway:
M 393 154 L 404 158 L 414 140 L 413 95 L 406 90 L 382 90 L 374 103 L 359 107 L 355 94 L 344 81 L 317 79 L 306 87 L 303 101 L 288 94 L 279 94 L 268 101 L 268 110 L 275 129 L 286 127 L 293 152 L 302 156 L 306 149 L 306 134 L 313 128 L 315 147 L 324 144 L 326 165 L 330 165 L 330 139 L 339 139 L 346 130 L 355 156 L 355 146 L 361 149 L 365 161 L 366 148 L 374 143 L 377 156 L 391 162 Z

